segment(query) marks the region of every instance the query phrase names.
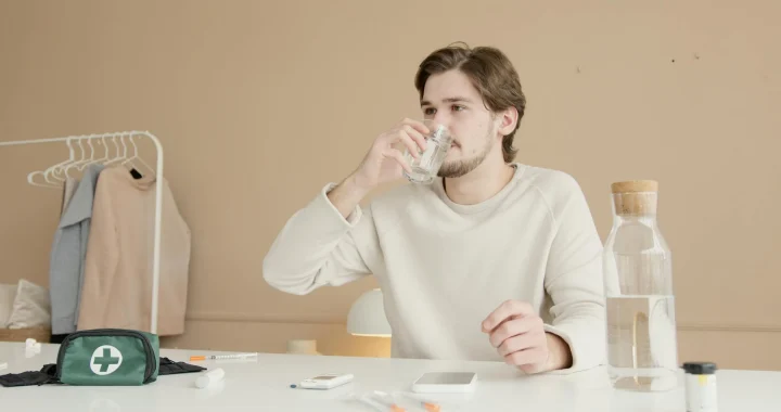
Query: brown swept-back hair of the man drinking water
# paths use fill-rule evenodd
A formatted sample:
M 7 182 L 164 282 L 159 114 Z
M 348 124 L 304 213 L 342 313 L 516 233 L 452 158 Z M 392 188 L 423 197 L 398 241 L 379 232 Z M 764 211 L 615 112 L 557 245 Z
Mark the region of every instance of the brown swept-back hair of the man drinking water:
M 526 96 L 510 59 L 496 48 L 471 49 L 460 42 L 436 50 L 423 60 L 415 74 L 414 83 L 420 98 L 423 99 L 423 89 L 430 76 L 451 69 L 461 70 L 472 80 L 472 85 L 483 98 L 483 103 L 491 112 L 501 112 L 510 107 L 517 110 L 515 129 L 502 139 L 504 162 L 512 162 L 517 153 L 512 142 L 526 110 Z

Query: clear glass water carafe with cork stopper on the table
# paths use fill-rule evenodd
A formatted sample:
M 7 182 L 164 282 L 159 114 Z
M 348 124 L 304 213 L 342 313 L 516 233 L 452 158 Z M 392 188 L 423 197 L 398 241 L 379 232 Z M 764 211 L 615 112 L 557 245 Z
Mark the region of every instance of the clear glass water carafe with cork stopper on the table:
M 673 263 L 660 231 L 655 181 L 612 185 L 613 228 L 603 254 L 607 369 L 618 389 L 677 386 Z

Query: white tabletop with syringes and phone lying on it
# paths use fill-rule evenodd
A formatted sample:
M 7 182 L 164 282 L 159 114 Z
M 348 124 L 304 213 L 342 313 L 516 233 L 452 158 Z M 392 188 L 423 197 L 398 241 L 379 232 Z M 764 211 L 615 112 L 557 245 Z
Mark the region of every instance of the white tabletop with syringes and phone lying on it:
M 0 343 L 0 371 L 38 371 L 54 363 L 59 345 L 43 345 L 40 355 L 26 358 L 24 344 Z M 190 350 L 166 350 L 161 356 L 188 361 Z M 350 391 L 409 390 L 423 372 L 473 371 L 478 386 L 472 395 L 428 396 L 445 411 L 684 411 L 682 386 L 663 394 L 611 389 L 604 370 L 571 375 L 525 376 L 503 363 L 428 361 L 345 357 L 259 355 L 254 360 L 192 362 L 222 368 L 225 381 L 206 389 L 194 386 L 196 373 L 159 376 L 156 383 L 133 387 L 27 386 L 0 387 L 2 411 L 371 411 L 345 401 Z M 292 389 L 291 384 L 328 372 L 353 373 L 353 384 L 327 391 Z M 781 411 L 781 372 L 719 371 L 719 412 Z M 681 379 L 682 382 L 682 379 Z M 411 412 L 411 411 L 410 411 Z

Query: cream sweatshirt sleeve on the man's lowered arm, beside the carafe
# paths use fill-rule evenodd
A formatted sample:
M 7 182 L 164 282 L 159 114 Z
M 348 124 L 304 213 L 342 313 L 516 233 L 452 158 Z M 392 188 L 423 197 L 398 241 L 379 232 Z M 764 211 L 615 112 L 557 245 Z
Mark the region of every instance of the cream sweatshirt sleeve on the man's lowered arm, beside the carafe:
M 551 204 L 554 234 L 545 286 L 551 296 L 552 324 L 546 331 L 569 346 L 571 373 L 604 363 L 605 312 L 602 282 L 602 242 L 586 197 L 569 176 L 559 180 Z

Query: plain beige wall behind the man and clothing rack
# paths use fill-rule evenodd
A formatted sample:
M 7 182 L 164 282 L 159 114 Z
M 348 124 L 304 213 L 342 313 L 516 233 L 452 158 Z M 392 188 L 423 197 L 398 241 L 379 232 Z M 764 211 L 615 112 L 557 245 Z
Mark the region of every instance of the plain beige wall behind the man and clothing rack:
M 603 236 L 609 184 L 660 180 L 681 359 L 781 370 L 779 13 L 771 0 L 3 0 L 0 140 L 163 140 L 193 233 L 189 332 L 166 345 L 282 351 L 304 337 L 386 353 L 344 332 L 373 280 L 287 296 L 264 283 L 263 256 L 379 132 L 420 115 L 427 52 L 497 46 L 528 98 L 518 159 L 574 175 Z M 0 150 L 0 281 L 46 282 L 60 193 L 25 178 L 65 154 Z

